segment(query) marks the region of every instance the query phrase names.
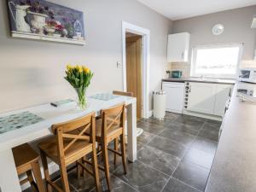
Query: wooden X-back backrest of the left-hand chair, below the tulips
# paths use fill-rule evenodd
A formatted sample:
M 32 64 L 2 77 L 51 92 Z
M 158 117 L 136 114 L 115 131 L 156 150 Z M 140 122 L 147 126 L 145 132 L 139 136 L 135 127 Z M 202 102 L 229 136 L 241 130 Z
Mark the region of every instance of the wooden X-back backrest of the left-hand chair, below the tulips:
M 60 156 L 64 156 L 68 148 L 81 140 L 96 143 L 95 116 L 96 113 L 93 112 L 79 119 L 52 125 L 51 129 L 57 137 Z M 84 134 L 87 130 L 90 130 L 90 136 Z

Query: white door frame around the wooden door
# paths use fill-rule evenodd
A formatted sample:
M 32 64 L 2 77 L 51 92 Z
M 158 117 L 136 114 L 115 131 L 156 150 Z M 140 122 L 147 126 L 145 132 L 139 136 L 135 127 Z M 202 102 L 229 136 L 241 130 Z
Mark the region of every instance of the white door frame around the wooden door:
M 142 117 L 149 118 L 151 116 L 149 110 L 149 47 L 150 47 L 150 31 L 140 26 L 135 26 L 131 23 L 122 21 L 122 42 L 123 42 L 123 90 L 127 91 L 126 82 L 126 32 L 132 32 L 141 35 L 142 46 L 142 96 L 143 109 Z

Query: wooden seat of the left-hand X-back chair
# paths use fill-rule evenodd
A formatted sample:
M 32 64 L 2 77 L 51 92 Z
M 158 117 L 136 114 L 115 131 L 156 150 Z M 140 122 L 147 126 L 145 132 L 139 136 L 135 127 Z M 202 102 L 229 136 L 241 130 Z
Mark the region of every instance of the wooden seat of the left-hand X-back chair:
M 66 140 L 66 141 L 65 141 Z M 67 144 L 70 140 L 64 140 L 64 148 L 67 147 Z M 56 141 L 56 137 L 49 137 L 44 142 L 38 144 L 38 148 L 44 151 L 44 153 L 49 156 L 50 159 L 54 160 L 55 163 L 59 162 L 59 152 L 58 152 L 58 144 Z M 78 155 L 82 158 L 85 154 L 89 154 L 91 152 L 92 143 L 85 140 L 79 140 L 73 143 L 70 148 L 67 148 L 65 151 L 65 162 L 67 165 L 70 165 L 74 161 L 78 160 Z

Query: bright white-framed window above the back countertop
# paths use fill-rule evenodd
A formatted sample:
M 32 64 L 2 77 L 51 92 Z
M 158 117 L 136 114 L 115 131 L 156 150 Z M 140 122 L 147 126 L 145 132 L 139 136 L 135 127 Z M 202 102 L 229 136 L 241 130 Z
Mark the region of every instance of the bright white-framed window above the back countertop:
M 236 78 L 241 48 L 242 44 L 195 47 L 191 76 Z

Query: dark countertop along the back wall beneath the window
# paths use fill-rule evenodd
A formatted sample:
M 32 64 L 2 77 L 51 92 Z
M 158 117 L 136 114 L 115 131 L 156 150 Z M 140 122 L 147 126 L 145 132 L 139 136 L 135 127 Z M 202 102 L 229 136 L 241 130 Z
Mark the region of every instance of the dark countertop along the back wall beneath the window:
M 208 84 L 235 84 L 236 80 L 232 79 L 201 79 L 201 78 L 181 78 L 181 79 L 162 79 L 162 82 L 199 82 Z

